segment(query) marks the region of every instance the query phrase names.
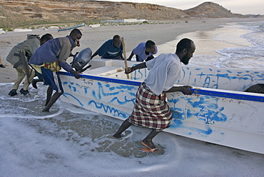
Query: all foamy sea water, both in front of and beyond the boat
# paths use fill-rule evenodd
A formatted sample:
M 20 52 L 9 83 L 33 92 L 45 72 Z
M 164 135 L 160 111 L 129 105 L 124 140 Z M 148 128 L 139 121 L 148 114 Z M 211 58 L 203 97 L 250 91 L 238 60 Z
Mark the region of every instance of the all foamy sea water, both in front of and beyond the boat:
M 263 25 L 228 25 L 250 30 L 240 37 L 252 45 L 197 55 L 191 64 L 263 69 Z M 212 40 L 234 41 L 220 36 Z M 263 176 L 264 155 L 165 132 L 153 139 L 161 152 L 146 153 L 141 140 L 147 128 L 131 126 L 113 138 L 122 123 L 115 118 L 59 100 L 42 112 L 42 84 L 13 97 L 7 94 L 12 84 L 0 86 L 0 176 Z

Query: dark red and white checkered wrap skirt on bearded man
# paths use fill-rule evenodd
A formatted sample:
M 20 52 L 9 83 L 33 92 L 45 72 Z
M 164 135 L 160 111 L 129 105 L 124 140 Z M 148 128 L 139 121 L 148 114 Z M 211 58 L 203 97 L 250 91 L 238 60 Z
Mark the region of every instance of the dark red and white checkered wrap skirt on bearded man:
M 157 96 L 142 83 L 136 93 L 136 103 L 128 121 L 136 126 L 163 131 L 170 126 L 172 118 L 171 109 L 166 102 L 166 93 Z

